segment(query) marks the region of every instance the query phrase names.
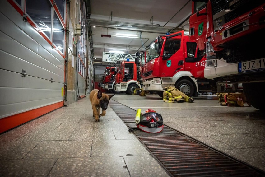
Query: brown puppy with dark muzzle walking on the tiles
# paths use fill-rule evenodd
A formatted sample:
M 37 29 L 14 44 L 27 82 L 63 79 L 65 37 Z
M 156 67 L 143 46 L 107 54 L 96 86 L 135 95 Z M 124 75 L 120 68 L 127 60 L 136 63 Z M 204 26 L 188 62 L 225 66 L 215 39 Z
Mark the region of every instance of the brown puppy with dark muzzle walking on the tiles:
M 92 104 L 93 116 L 95 116 L 95 122 L 99 122 L 100 116 L 105 116 L 106 109 L 108 108 L 109 100 L 113 95 L 108 95 L 102 93 L 98 89 L 94 89 L 89 94 L 89 99 Z M 102 108 L 102 113 L 100 114 L 100 108 Z

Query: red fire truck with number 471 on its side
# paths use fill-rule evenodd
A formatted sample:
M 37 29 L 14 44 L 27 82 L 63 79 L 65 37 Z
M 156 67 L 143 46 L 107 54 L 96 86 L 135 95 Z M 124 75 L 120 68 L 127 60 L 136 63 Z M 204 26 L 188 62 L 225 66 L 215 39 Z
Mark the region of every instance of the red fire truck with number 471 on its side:
M 136 54 L 139 56 L 139 54 Z M 204 78 L 205 58 L 195 41 L 189 40 L 184 30 L 158 36 L 145 50 L 142 79 L 144 91 L 156 91 L 160 97 L 166 86 L 173 86 L 188 96 L 212 91 L 212 80 Z

